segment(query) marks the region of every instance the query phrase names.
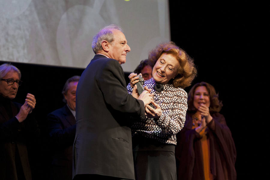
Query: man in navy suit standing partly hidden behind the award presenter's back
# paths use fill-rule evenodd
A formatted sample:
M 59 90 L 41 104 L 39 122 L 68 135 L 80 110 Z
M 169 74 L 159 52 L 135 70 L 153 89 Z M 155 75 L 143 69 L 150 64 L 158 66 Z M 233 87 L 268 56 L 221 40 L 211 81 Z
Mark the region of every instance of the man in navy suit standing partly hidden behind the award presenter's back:
M 50 179 L 72 180 L 72 145 L 75 138 L 76 89 L 80 76 L 67 79 L 62 94 L 66 105 L 47 117 L 52 163 Z

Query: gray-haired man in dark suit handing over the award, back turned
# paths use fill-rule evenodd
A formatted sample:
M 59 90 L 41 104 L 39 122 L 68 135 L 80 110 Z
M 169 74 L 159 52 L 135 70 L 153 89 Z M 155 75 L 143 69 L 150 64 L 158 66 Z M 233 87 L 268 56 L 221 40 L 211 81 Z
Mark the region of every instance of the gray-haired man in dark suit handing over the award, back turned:
M 76 92 L 75 179 L 134 179 L 131 116 L 145 117 L 153 102 L 147 89 L 138 96 L 126 89 L 120 64 L 130 47 L 121 28 L 110 25 L 94 36 L 95 57 L 86 67 Z

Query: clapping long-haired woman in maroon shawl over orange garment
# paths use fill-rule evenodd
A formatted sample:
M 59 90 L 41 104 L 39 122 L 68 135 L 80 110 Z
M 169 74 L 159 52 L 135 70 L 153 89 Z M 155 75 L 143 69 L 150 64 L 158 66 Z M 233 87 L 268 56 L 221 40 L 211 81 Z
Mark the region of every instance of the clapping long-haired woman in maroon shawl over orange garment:
M 214 87 L 196 83 L 187 104 L 186 122 L 177 134 L 178 179 L 236 179 L 235 145 Z

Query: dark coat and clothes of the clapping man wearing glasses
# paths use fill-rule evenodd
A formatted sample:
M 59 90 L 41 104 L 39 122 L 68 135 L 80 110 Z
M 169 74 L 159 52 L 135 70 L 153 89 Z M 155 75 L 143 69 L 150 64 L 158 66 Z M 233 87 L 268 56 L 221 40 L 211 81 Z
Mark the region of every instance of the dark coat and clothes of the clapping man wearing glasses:
M 0 101 L 6 100 L 1 97 Z M 31 180 L 27 145 L 38 139 L 40 130 L 32 114 L 29 114 L 22 123 L 15 118 L 21 104 L 9 100 L 8 104 L 11 108 L 10 115 L 2 102 L 0 103 L 0 179 L 16 180 L 21 167 L 20 174 L 24 174 L 25 179 Z M 17 167 L 16 162 L 20 162 Z

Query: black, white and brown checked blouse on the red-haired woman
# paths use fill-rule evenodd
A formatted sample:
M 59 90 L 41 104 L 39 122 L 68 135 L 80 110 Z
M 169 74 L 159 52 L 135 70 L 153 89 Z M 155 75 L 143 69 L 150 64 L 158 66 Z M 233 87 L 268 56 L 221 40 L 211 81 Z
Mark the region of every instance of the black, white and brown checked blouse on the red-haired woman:
M 184 127 L 187 112 L 187 92 L 182 88 L 175 88 L 172 84 L 164 84 L 160 92 L 154 90 L 155 80 L 146 80 L 145 86 L 154 93 L 154 101 L 162 110 L 159 119 L 146 116 L 144 120 L 134 122 L 131 126 L 132 136 L 140 134 L 161 143 L 176 145 L 176 134 Z M 133 88 L 127 86 L 128 93 L 132 94 Z

